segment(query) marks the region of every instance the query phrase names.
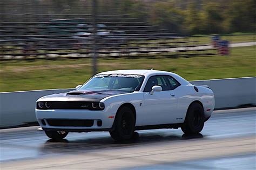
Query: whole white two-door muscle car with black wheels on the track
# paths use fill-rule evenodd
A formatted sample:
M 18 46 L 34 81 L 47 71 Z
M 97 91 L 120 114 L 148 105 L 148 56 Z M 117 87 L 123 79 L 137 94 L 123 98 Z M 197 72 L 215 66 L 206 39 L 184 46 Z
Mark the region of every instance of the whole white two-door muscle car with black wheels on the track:
M 199 133 L 213 108 L 211 89 L 175 73 L 118 70 L 98 73 L 68 93 L 38 99 L 36 118 L 40 130 L 54 140 L 69 132 L 91 131 L 129 140 L 134 131 L 155 128 Z

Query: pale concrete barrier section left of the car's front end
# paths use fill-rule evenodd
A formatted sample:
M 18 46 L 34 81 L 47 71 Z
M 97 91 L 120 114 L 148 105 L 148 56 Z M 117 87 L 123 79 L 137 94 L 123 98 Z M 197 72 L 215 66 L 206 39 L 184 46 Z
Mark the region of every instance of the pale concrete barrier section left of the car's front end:
M 0 93 L 0 127 L 17 126 L 36 121 L 36 100 L 53 93 L 72 89 L 35 90 Z

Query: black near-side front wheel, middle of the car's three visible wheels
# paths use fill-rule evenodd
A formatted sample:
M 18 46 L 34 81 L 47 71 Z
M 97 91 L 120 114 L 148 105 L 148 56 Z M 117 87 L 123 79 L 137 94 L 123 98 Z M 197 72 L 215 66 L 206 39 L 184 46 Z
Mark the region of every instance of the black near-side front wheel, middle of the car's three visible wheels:
M 114 140 L 129 140 L 133 137 L 134 126 L 135 118 L 131 108 L 123 107 L 117 112 L 114 130 L 109 133 Z

